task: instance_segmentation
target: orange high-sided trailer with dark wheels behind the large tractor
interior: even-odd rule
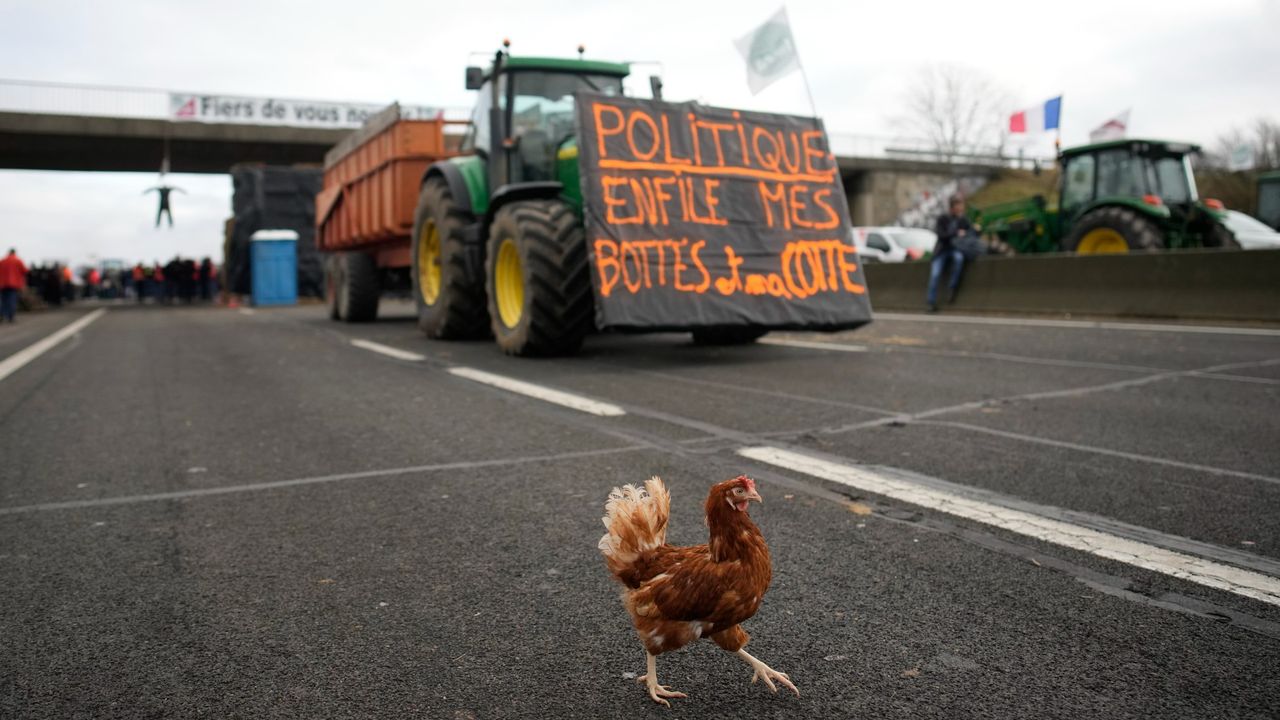
[[[372,319],[381,290],[407,283],[422,174],[431,163],[457,155],[467,124],[403,119],[399,105],[392,105],[325,155],[316,249],[335,254],[325,283],[334,316]],[[342,281],[357,274],[358,297],[346,297],[351,288]],[[374,282],[378,287],[370,288]]]

